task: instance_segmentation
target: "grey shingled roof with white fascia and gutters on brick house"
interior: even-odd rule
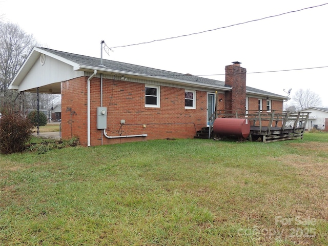
[[[122,63],[120,61],[114,61],[108,59],[103,59],[101,65],[100,58],[73,54],[64,51],[52,50],[43,47],[33,48],[27,60],[24,62],[23,66],[19,69],[18,73],[12,80],[9,89],[18,89],[21,81],[25,78],[25,76],[30,71],[36,60],[40,57],[40,54],[43,53],[73,66],[75,71],[93,72],[94,70],[97,70],[98,73],[130,75],[139,78],[167,81],[168,83],[176,83],[180,85],[183,84],[183,85],[199,87],[199,88],[208,88],[212,90],[214,89],[214,90],[221,90],[221,91],[230,91],[232,89],[230,86],[226,85],[224,81],[220,81],[220,80],[194,76],[191,74],[171,72],[171,71],[144,67],[139,65],[133,65],[128,63]],[[54,81],[52,83],[54,83]],[[56,91],[57,93],[60,93],[60,85],[57,87],[58,88]],[[52,91],[55,91],[55,89],[52,89]],[[247,87],[246,92],[248,95],[254,95],[254,96],[269,96],[280,100],[289,99],[286,96],[281,96],[278,94],[259,90],[252,87]]]

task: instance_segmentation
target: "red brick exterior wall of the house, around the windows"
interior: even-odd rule
[[[87,79],[62,83],[62,137],[79,137],[87,145]],[[218,109],[224,109],[224,94],[218,94]],[[76,115],[66,112],[70,107]],[[100,107],[100,78],[91,79],[91,146],[101,145],[103,130],[96,129]],[[160,86],[160,108],[145,107],[145,84],[103,79],[103,107],[107,107],[107,135],[148,134],[147,137],[106,138],[103,144],[163,138],[192,138],[206,126],[207,92],[196,91],[196,109],[185,109],[185,89]],[[125,125],[120,126],[120,120]],[[146,125],[146,128],[144,128]],[[72,130],[71,130],[72,129]]]

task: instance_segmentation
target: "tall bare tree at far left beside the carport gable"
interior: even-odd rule
[[[29,52],[36,46],[32,34],[27,34],[17,24],[0,21],[0,103],[13,106],[17,92],[8,90],[11,80]]]

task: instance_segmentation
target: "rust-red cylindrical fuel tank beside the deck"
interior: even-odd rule
[[[213,131],[220,136],[247,138],[250,134],[251,126],[247,119],[216,118],[213,124]]]

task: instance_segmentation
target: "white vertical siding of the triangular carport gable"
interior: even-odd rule
[[[74,71],[71,65],[46,55],[45,64],[37,59],[19,85],[19,91],[26,91],[52,83],[66,81],[84,75],[83,71]]]

